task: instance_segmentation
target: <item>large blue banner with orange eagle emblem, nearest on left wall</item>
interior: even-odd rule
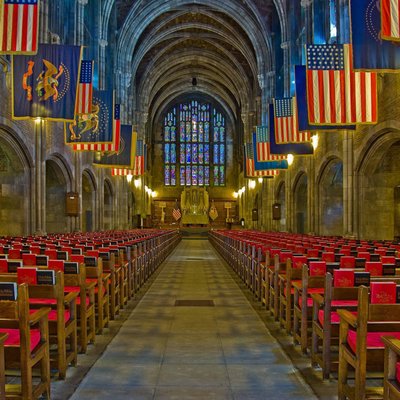
[[[80,46],[51,44],[13,56],[13,118],[73,121],[80,58]]]

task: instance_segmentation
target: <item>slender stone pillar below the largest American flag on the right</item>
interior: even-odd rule
[[[343,133],[343,235],[354,235],[353,132]]]

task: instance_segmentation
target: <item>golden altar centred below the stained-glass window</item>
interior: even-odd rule
[[[208,192],[205,188],[185,188],[181,194],[182,225],[208,225]]]

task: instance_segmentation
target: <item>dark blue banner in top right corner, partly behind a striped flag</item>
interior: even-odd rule
[[[379,0],[351,0],[351,40],[355,70],[384,70],[400,68],[400,47],[381,39]]]

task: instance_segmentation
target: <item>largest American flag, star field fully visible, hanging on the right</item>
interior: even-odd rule
[[[353,71],[350,44],[307,45],[307,103],[311,124],[377,122],[377,76]]]

